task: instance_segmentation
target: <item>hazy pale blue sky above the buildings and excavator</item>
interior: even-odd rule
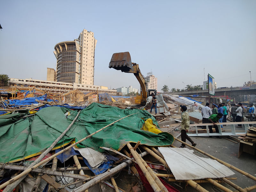
[[[256,80],[255,0],[0,1],[0,74],[46,80],[56,69],[54,46],[83,29],[97,39],[94,84],[140,89],[133,74],[108,68],[113,53],[130,52],[158,91],[217,87]],[[184,83],[182,83],[184,82]]]

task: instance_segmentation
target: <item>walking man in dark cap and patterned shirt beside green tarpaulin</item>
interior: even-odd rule
[[[196,146],[196,143],[192,141],[192,139],[187,135],[188,129],[189,129],[189,115],[187,110],[187,107],[184,105],[180,105],[180,110],[181,110],[181,140],[183,142],[186,142],[186,139],[190,141],[193,147]],[[180,148],[186,148],[185,144],[181,144]]]

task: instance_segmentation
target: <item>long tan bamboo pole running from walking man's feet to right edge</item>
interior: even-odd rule
[[[241,169],[238,169],[237,167],[235,167],[235,166],[233,166],[233,165],[231,165],[231,164],[228,164],[228,163],[226,163],[225,161],[222,161],[222,160],[220,160],[220,159],[218,159],[218,158],[216,158],[216,157],[214,157],[214,156],[212,156],[212,155],[210,155],[210,154],[208,154],[208,153],[205,153],[204,151],[202,151],[202,150],[200,150],[200,149],[198,149],[198,148],[195,148],[195,147],[193,147],[192,145],[189,145],[188,143],[183,142],[182,140],[179,140],[179,139],[177,139],[177,138],[175,138],[175,140],[180,141],[181,143],[187,145],[188,147],[193,148],[193,149],[199,151],[200,153],[202,153],[202,154],[204,154],[204,155],[206,155],[206,156],[208,156],[208,157],[211,157],[212,159],[214,159],[214,160],[220,162],[221,164],[224,164],[224,165],[226,165],[227,167],[229,167],[229,168],[231,168],[231,169],[234,169],[235,171],[237,171],[237,172],[239,172],[239,173],[245,175],[246,177],[248,177],[248,178],[250,178],[250,179],[256,181],[256,177],[254,177],[253,175],[251,175],[251,174],[249,174],[249,173],[247,173],[247,172],[245,172],[245,171],[243,171],[243,170],[241,170]]]

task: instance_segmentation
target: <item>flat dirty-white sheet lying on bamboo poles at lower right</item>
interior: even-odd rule
[[[218,161],[196,156],[193,154],[194,151],[188,148],[159,147],[158,149],[176,180],[214,179],[235,174]]]

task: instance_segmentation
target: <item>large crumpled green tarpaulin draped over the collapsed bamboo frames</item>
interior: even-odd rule
[[[19,161],[42,153],[65,131],[77,113],[68,108],[47,107],[31,118],[20,119],[22,114],[1,116],[0,162]],[[84,140],[77,147],[90,147],[103,152],[100,147],[120,150],[128,142],[140,141],[149,146],[166,146],[173,143],[173,136],[167,132],[157,135],[141,130],[143,119],[152,118],[153,123],[157,124],[155,118],[145,110],[120,109],[92,103],[80,112],[76,122],[55,148],[68,144],[72,140],[81,140],[104,126],[133,113],[137,114],[116,122],[93,135],[91,139]]]

